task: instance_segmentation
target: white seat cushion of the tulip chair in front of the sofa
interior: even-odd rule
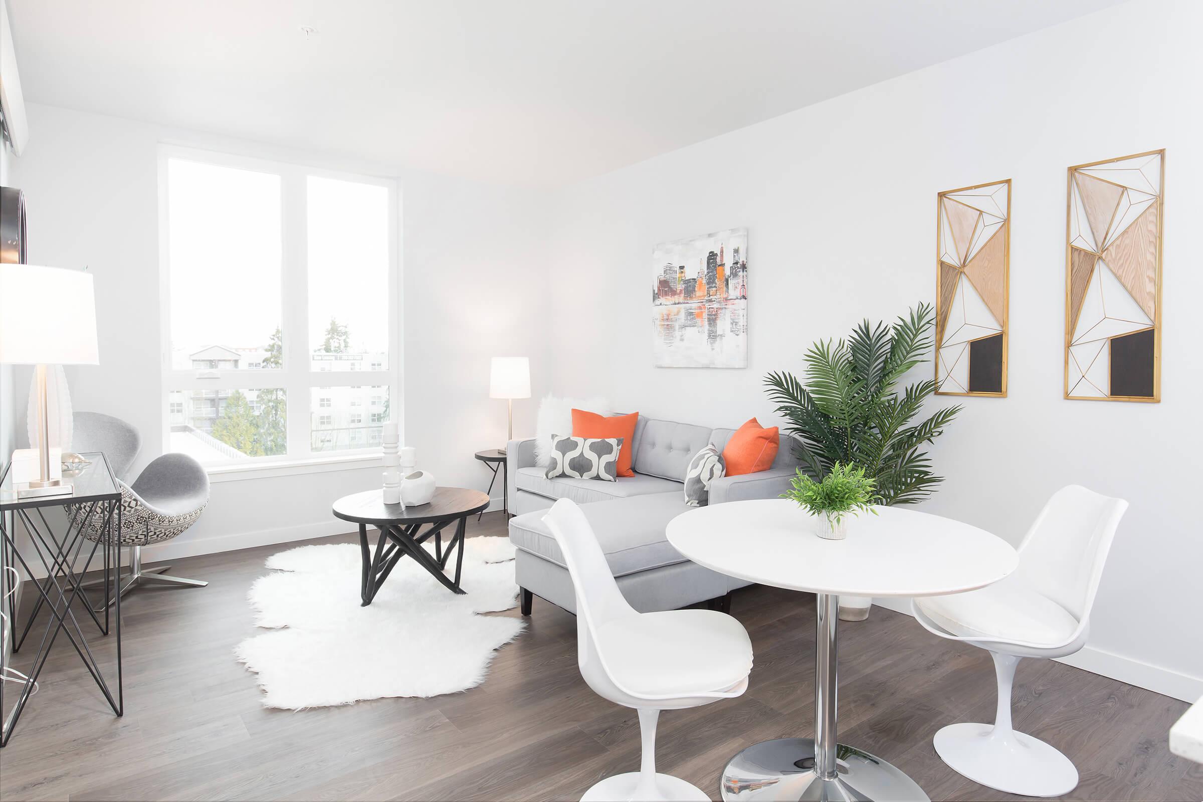
[[[710,610],[624,616],[593,637],[615,684],[640,696],[728,690],[752,671],[747,630]]]

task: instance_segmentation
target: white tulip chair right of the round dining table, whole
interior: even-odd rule
[[[1057,491],[1019,545],[1019,568],[1001,582],[915,599],[914,617],[940,637],[990,652],[998,679],[994,724],[936,733],[941,760],[982,785],[1023,796],[1061,796],[1078,785],[1073,762],[1011,724],[1011,688],[1023,658],[1061,658],[1086,643],[1090,608],[1127,501],[1071,485]]]

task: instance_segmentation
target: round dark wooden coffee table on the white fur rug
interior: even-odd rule
[[[439,487],[428,504],[408,506],[385,504],[381,491],[344,495],[334,501],[334,517],[360,524],[360,552],[363,557],[360,598],[363,607],[372,604],[397,562],[407,554],[452,593],[463,593],[460,571],[463,568],[463,533],[468,516],[488,506],[488,495],[464,487]],[[443,530],[455,523],[456,531],[443,547]],[[368,527],[380,530],[375,549],[368,545]],[[421,528],[428,527],[426,531]],[[434,556],[422,543],[434,537]],[[444,572],[451,552],[456,552],[455,580]]]

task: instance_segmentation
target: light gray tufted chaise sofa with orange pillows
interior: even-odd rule
[[[522,613],[533,596],[576,612],[573,580],[555,537],[543,522],[556,499],[571,499],[593,527],[618,587],[635,610],[676,610],[712,601],[730,606],[730,593],[748,582],[717,574],[682,557],[664,536],[672,518],[692,510],[685,503],[683,480],[689,459],[707,442],[719,451],[735,429],[712,429],[640,417],[635,426],[634,476],[615,482],[547,479],[535,465],[534,440],[511,440],[506,447],[510,541],[517,547],[515,574],[522,588]],[[766,471],[727,476],[710,488],[710,504],[781,495],[796,468],[789,439],[781,439],[777,458]],[[739,533],[733,531],[733,537]]]

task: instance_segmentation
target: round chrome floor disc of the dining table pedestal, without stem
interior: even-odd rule
[[[727,764],[724,800],[913,800],[928,802],[919,785],[867,751],[838,744],[836,776],[814,773],[814,741],[778,738],[748,747]]]

